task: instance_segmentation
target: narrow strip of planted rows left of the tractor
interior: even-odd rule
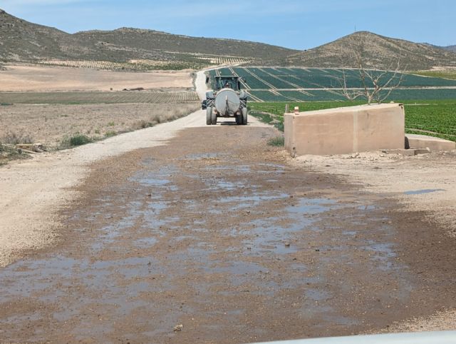
[[[78,104],[78,103],[194,103],[196,92],[0,92],[0,103]]]

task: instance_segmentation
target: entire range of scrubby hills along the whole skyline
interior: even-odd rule
[[[67,34],[48,26],[29,23],[0,10],[0,63],[43,63],[52,60],[127,62],[145,59],[195,62],[192,68],[219,64],[220,61],[338,68],[356,67],[351,57],[354,44],[363,46],[366,66],[388,68],[398,59],[400,68],[408,70],[456,66],[456,54],[450,51],[456,49],[455,46],[446,47],[445,50],[367,31],[356,32],[315,49],[297,51],[250,41],[190,37],[130,28]],[[210,61],[212,56],[214,61]],[[180,68],[185,66],[181,65]]]

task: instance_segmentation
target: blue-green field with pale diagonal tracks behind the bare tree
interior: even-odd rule
[[[241,76],[251,101],[343,101],[338,93],[341,78],[348,88],[361,88],[358,71],[353,69],[302,69],[232,67],[209,71],[210,76]],[[384,80],[392,74],[385,74]],[[400,88],[393,90],[388,101],[412,99],[456,99],[456,80],[399,74]]]

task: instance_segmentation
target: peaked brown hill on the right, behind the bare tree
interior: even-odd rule
[[[353,50],[359,50],[359,46],[363,46],[363,61],[368,67],[387,69],[396,66],[398,60],[400,69],[404,70],[456,66],[456,54],[451,51],[429,44],[391,39],[368,31],[359,31],[315,49],[291,54],[286,62],[296,66],[356,68]]]

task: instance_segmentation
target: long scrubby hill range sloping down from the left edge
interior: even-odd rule
[[[0,10],[0,60],[198,61],[199,55],[238,56],[255,60],[284,59],[297,51],[249,41],[208,39],[122,28],[67,34],[16,18]],[[204,62],[204,60],[203,60]]]

